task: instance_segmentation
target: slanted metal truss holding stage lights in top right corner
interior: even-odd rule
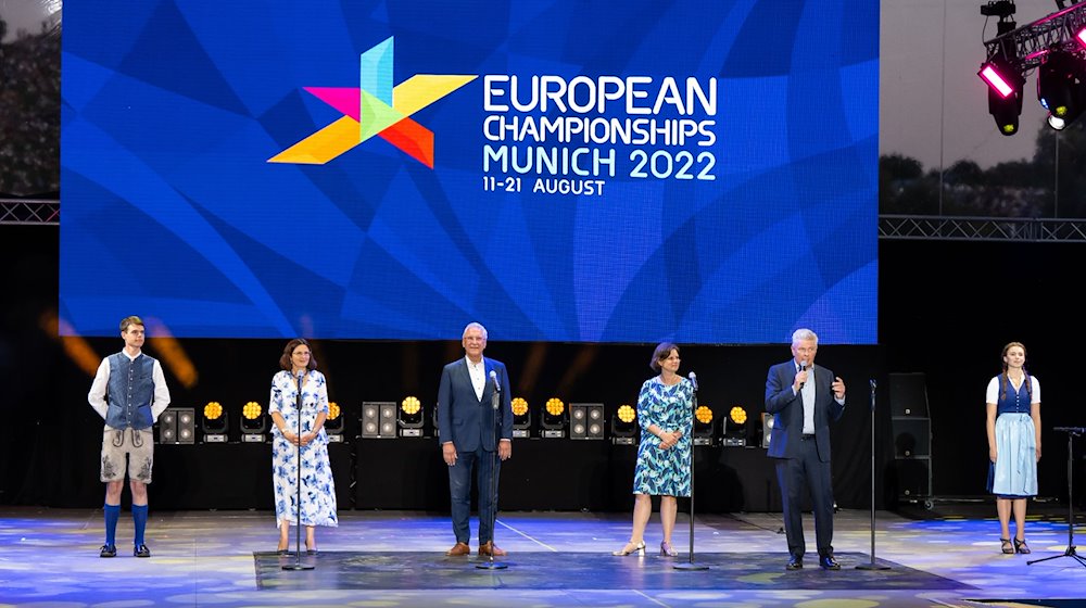
[[[1086,1],[985,41],[987,61],[999,58],[1025,76],[1044,62],[1050,50],[1082,54],[1075,34],[1083,27],[1086,27]]]

